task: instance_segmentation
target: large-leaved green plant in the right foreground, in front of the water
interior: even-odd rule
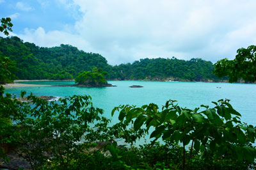
[[[213,108],[201,105],[205,110],[200,112],[200,108],[181,108],[175,102],[166,102],[161,112],[157,105],[149,104],[138,108],[128,105],[116,107],[112,114],[120,109],[118,119],[132,122],[134,130],[143,126],[147,129],[154,127],[155,130],[150,134],[154,141],[161,137],[165,142],[181,143],[184,148],[182,169],[189,168],[193,149],[204,153],[207,147],[215,157],[232,155],[232,158],[241,161],[254,161],[256,150],[252,144],[255,142],[255,128],[241,123],[241,114],[228,100],[212,102],[216,105]],[[186,153],[185,146],[189,143],[191,150]]]

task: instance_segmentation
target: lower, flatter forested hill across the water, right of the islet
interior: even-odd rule
[[[161,80],[171,78],[175,81],[217,80],[212,74],[214,66],[211,61],[194,58],[189,61],[177,58],[145,58],[140,59],[140,61],[134,61],[132,64],[114,66],[113,69],[118,70],[117,77],[120,79]]]

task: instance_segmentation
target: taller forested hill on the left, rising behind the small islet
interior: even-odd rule
[[[0,55],[12,59],[17,79],[72,79],[94,66],[111,73],[111,66],[99,54],[87,53],[70,45],[38,47],[20,38],[0,38]]]

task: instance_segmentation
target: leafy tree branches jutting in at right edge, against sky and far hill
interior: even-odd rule
[[[218,77],[228,76],[229,82],[237,82],[239,79],[256,82],[256,46],[238,49],[234,60],[221,59],[214,66],[214,73]]]

